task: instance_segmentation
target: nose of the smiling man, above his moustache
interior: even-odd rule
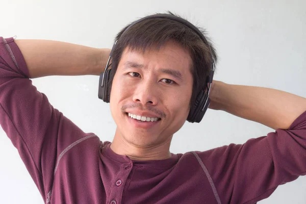
[[[159,93],[154,83],[150,81],[142,81],[139,83],[134,95],[133,101],[141,103],[143,106],[151,105],[156,106],[158,104]]]

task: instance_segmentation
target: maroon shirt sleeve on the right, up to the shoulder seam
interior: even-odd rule
[[[256,203],[277,186],[306,174],[306,111],[288,130],[198,155],[212,175],[221,203]]]

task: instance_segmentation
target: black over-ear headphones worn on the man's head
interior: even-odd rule
[[[140,21],[143,21],[143,20],[146,20],[146,19],[152,19],[152,18],[166,18],[166,19],[171,19],[171,20],[175,20],[177,22],[183,23],[188,28],[193,30],[203,40],[203,42],[206,45],[209,46],[209,43],[208,43],[207,39],[192,23],[190,23],[189,21],[187,21],[183,18],[174,16],[174,15],[170,15],[170,14],[155,14],[155,15],[146,16],[144,18],[141,18],[141,19],[133,22],[129,27],[127,27],[124,30],[124,32],[129,30],[129,28],[132,27],[134,24],[136,24]],[[123,36],[124,32],[122,33],[121,36]],[[108,68],[110,66],[109,65],[110,59],[111,59],[113,50],[115,49],[117,41],[113,45],[113,48],[112,48],[111,53],[110,53],[110,57],[108,59],[106,67],[105,67],[105,71],[100,74],[100,79],[99,79],[98,97],[106,103],[110,102],[110,93],[109,93],[107,84],[108,84],[109,79],[110,79],[110,70],[111,69],[108,69]],[[212,61],[213,61],[213,56],[212,56]],[[214,72],[215,72],[215,63],[213,62],[212,63],[212,69],[210,70],[209,75],[206,79],[206,83],[205,83],[206,86],[207,86],[207,83],[209,83],[209,87],[207,87],[207,92],[205,91],[205,87],[203,87],[200,90],[200,92],[197,94],[194,104],[191,105],[191,108],[190,108],[190,111],[189,111],[189,114],[188,114],[188,117],[187,117],[187,121],[189,121],[189,122],[200,122],[202,120],[204,114],[206,113],[206,111],[209,107],[209,104],[210,104],[209,92],[210,92],[210,88],[211,88],[211,85],[212,85],[212,82],[213,82]]]

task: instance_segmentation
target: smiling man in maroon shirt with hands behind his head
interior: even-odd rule
[[[171,154],[172,136],[216,61],[214,48],[175,20],[125,29],[112,53],[112,143],[81,131],[29,80],[99,75],[109,49],[0,39],[0,123],[45,203],[256,203],[305,174],[306,98],[263,87],[214,81],[210,108],[275,132],[243,145]]]

